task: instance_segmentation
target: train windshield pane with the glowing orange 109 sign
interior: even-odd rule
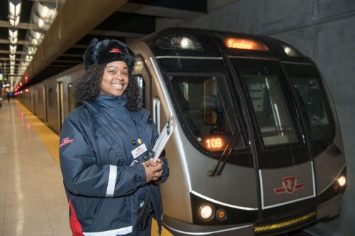
[[[209,151],[222,151],[239,135],[224,75],[170,75],[176,105],[189,136]],[[239,138],[234,148],[244,147]]]

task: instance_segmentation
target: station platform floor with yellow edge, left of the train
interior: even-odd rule
[[[20,102],[0,108],[0,236],[70,236],[59,136]],[[154,221],[154,220],[153,220]],[[152,235],[158,235],[153,222]],[[163,229],[163,236],[171,235]]]

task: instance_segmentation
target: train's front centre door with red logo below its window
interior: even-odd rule
[[[315,217],[315,173],[280,63],[245,57],[229,60],[251,114],[249,125],[255,139],[251,143],[259,181],[257,225],[273,223],[275,230],[285,224],[275,220],[281,216],[302,224]],[[302,218],[302,214],[307,216]],[[256,232],[263,230],[256,227]]]

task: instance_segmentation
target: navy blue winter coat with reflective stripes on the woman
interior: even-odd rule
[[[124,95],[100,94],[96,101],[72,111],[62,125],[60,167],[75,236],[136,235],[137,210],[147,191],[161,228],[158,184],[146,184],[142,164],[131,166],[131,151],[138,146],[131,144],[131,137],[141,138],[151,150],[158,132],[147,110],[131,112],[125,104]],[[169,175],[168,161],[161,158],[159,182]]]

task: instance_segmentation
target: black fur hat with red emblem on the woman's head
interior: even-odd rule
[[[115,61],[126,62],[129,73],[133,71],[136,55],[125,43],[119,40],[107,39],[99,41],[93,38],[84,52],[84,69],[92,64],[107,64]]]

